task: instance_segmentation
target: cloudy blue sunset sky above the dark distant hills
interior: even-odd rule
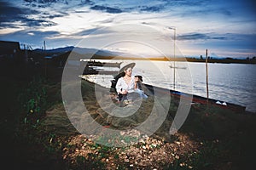
[[[255,7],[253,0],[0,0],[0,40],[247,58],[256,56]]]

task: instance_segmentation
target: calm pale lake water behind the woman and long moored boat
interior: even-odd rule
[[[134,62],[136,65],[133,75],[143,76],[144,83],[207,97],[205,63],[114,59],[101,61],[123,62],[121,67]],[[117,68],[113,69],[117,70]],[[246,106],[247,111],[256,112],[255,72],[256,65],[209,63],[209,98],[243,105]],[[107,88],[110,88],[112,79],[112,75],[90,77],[90,81]]]

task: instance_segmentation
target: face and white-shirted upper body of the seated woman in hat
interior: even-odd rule
[[[116,83],[116,91],[119,94],[119,101],[127,99],[127,94],[135,92],[138,80],[131,76],[132,68],[125,68],[125,76],[120,77]]]

